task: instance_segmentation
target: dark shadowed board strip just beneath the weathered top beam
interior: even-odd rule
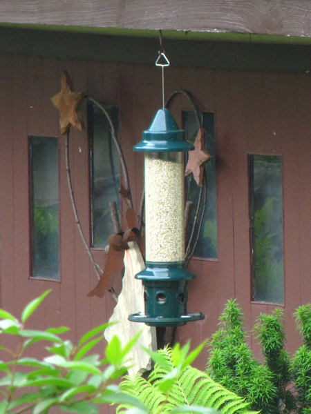
[[[0,28],[0,37],[0,53],[64,59],[153,64],[159,49],[158,39],[100,34]],[[310,47],[303,45],[166,39],[164,46],[172,66],[286,72],[311,68]]]

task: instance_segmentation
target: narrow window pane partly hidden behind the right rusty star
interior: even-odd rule
[[[183,111],[182,120],[184,124],[186,139],[194,143],[198,133],[198,124],[196,115],[193,111]],[[205,164],[207,175],[207,205],[202,222],[202,229],[198,244],[194,250],[194,256],[205,257],[207,259],[217,259],[218,257],[218,239],[217,239],[217,209],[216,209],[216,144],[215,144],[215,123],[212,112],[203,112],[202,126],[205,128],[205,147],[211,155],[211,159]],[[189,222],[194,221],[196,206],[200,187],[192,176],[187,177],[187,199],[193,201]],[[187,239],[190,237],[191,226],[187,228]]]

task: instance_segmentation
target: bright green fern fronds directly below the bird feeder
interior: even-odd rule
[[[243,398],[211,380],[206,373],[189,366],[189,361],[200,349],[187,356],[188,349],[189,345],[180,349],[177,344],[158,351],[148,380],[139,376],[126,377],[121,383],[122,390],[137,397],[154,414],[176,412],[174,410],[180,406],[211,407],[223,414],[250,414],[249,403]],[[117,413],[124,413],[126,408],[126,404],[119,406]]]

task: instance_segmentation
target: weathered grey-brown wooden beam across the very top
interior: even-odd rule
[[[311,36],[308,0],[1,0],[7,23]]]

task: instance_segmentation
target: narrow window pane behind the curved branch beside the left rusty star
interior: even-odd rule
[[[118,110],[113,107],[106,107],[106,110],[117,133]],[[115,201],[120,210],[120,164],[106,116],[95,105],[89,107],[88,115],[91,146],[91,243],[93,247],[104,248],[109,235],[113,233],[109,202]]]

